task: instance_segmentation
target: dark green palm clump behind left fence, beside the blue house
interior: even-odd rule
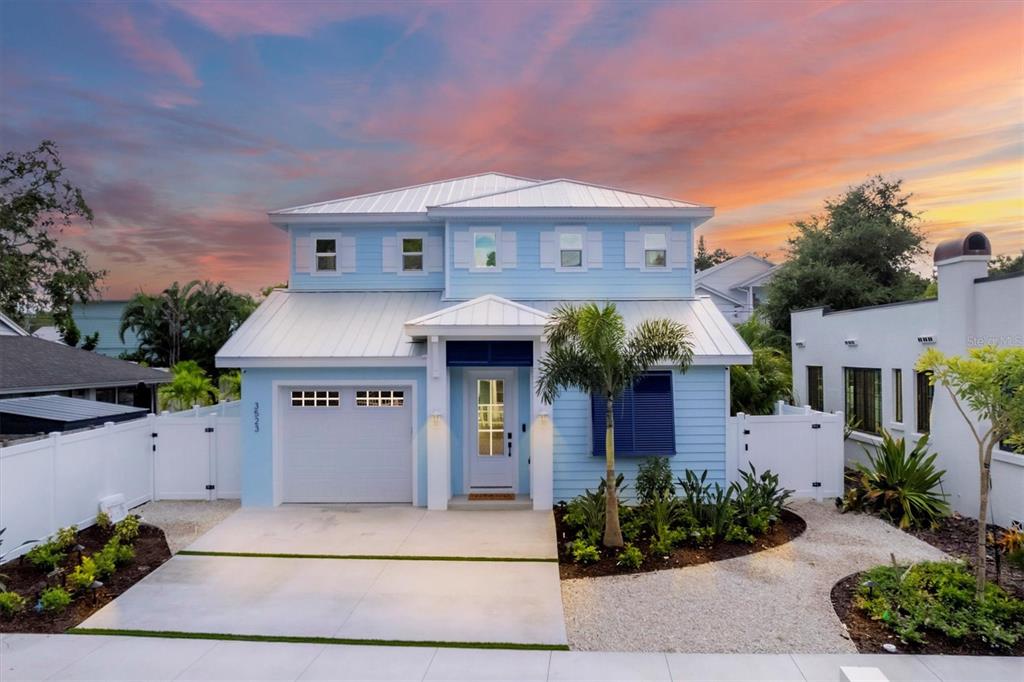
[[[129,329],[139,339],[129,357],[158,367],[196,360],[215,372],[214,355],[256,308],[248,294],[238,294],[223,283],[177,282],[158,295],[139,292],[121,315],[121,339]]]

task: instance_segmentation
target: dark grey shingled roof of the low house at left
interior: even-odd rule
[[[0,398],[69,397],[156,411],[166,372],[71,348],[30,335],[0,314]]]

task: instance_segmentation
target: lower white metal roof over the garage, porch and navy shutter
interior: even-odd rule
[[[427,329],[458,333],[462,326],[476,326],[509,335],[516,328],[536,333],[546,322],[542,315],[558,304],[484,296],[453,305],[441,300],[439,291],[275,291],[220,349],[217,365],[422,364],[425,345],[414,342],[408,332],[420,337]],[[615,301],[615,305],[627,326],[649,317],[670,317],[686,325],[693,335],[697,364],[751,361],[751,349],[710,298]],[[431,319],[435,324],[430,325]],[[413,328],[407,329],[407,323]]]

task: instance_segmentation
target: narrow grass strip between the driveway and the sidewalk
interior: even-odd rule
[[[348,637],[302,637],[293,635],[236,635],[217,632],[180,630],[120,630],[118,628],[72,628],[69,635],[114,635],[154,639],[212,639],[226,642],[279,642],[288,644],[348,644],[365,646],[419,646],[443,649],[512,649],[518,651],[568,651],[567,644],[527,644],[522,642],[445,642],[404,639],[358,639]]]

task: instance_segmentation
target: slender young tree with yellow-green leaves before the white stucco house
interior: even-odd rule
[[[971,348],[966,357],[929,348],[918,358],[916,369],[931,372],[932,385],[945,387],[978,443],[980,495],[975,580],[980,601],[985,591],[985,519],[992,450],[1000,440],[1012,446],[1024,444],[1024,348]],[[978,424],[968,414],[969,410],[979,420]]]

